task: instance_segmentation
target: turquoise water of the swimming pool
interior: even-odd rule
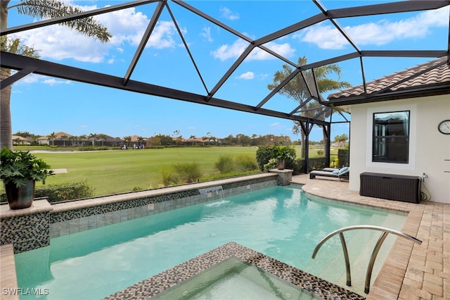
[[[339,238],[330,239],[312,260],[316,244],[340,227],[400,230],[404,220],[308,199],[300,187],[270,187],[53,238],[51,246],[15,255],[18,286],[46,294],[42,299],[101,299],[231,241],[334,283],[343,277],[345,285]],[[364,246],[378,234],[362,230],[345,237],[350,258],[366,263],[373,246]],[[389,244],[383,246],[385,254]],[[368,256],[359,258],[364,252]],[[356,272],[352,265],[352,279],[364,282],[366,265],[363,275]],[[376,272],[375,265],[373,278]],[[33,296],[21,296],[28,298]]]

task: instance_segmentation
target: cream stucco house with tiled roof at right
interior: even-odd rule
[[[428,177],[432,201],[450,204],[450,68],[439,58],[328,96],[348,106],[349,189],[360,189],[364,172]]]

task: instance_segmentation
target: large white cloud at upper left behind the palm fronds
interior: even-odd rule
[[[79,6],[91,10],[96,6]],[[27,45],[39,50],[41,58],[56,61],[73,58],[76,61],[100,63],[108,61],[109,51],[122,53],[124,44],[137,46],[146,31],[149,19],[134,8],[97,15],[96,20],[108,28],[113,37],[110,42],[101,43],[92,37],[86,37],[75,30],[60,25],[41,27],[35,30],[20,32],[15,36],[23,39]],[[172,21],[160,21],[148,39],[147,47],[164,49],[176,46],[174,36],[178,35]]]

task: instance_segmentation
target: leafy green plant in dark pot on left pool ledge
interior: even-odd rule
[[[28,151],[1,149],[0,180],[4,182],[9,208],[22,209],[32,205],[36,181],[45,184],[53,175],[50,165]]]

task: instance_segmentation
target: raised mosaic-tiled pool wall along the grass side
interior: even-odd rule
[[[210,182],[207,186],[214,187],[217,185],[217,183]],[[221,183],[223,191],[221,194],[201,195],[198,186],[192,185],[191,189],[183,191],[162,192],[155,196],[127,199],[101,205],[95,205],[94,203],[92,206],[67,209],[65,211],[52,211],[50,207],[46,211],[13,215],[2,214],[0,245],[13,244],[14,253],[17,254],[49,246],[52,237],[70,235],[83,230],[212,201],[221,196],[233,196],[276,185],[276,176],[267,177],[264,175],[262,177],[244,178],[240,181],[234,180],[229,183]],[[205,185],[202,186],[204,187]],[[45,199],[39,200],[39,202],[41,201],[45,201],[46,205],[49,206]],[[34,201],[33,205],[39,202]]]

